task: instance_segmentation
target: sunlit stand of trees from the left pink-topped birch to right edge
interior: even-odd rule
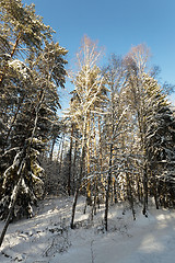
[[[124,57],[112,55],[102,68],[101,54],[85,36],[77,54],[79,68],[70,73],[74,90],[65,116],[70,141],[67,185],[75,191],[71,226],[83,190],[93,214],[100,202],[105,204],[107,230],[113,202],[128,201],[133,219],[137,202],[148,216],[149,197],[156,208],[174,207],[175,118],[167,85],[158,82],[158,68],[149,67],[145,45],[132,47]]]

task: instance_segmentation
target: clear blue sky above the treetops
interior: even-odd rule
[[[57,33],[55,41],[69,50],[71,64],[86,34],[105,47],[106,56],[125,55],[144,43],[162,81],[175,84],[175,0],[22,0]]]

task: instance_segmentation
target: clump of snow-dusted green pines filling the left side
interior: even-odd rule
[[[23,8],[21,1],[12,0],[1,1],[0,9],[3,38],[14,41],[9,44],[8,61],[2,59],[0,76],[5,135],[0,157],[0,217],[8,217],[5,229],[14,217],[31,216],[32,205],[44,193],[45,172],[38,156],[57,122],[57,88],[65,85],[67,50],[49,42],[52,31],[35,14],[34,5]],[[21,46],[28,49],[25,61],[18,58]]]

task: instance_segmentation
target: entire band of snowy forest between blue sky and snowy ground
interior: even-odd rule
[[[106,66],[103,50],[82,38],[72,71],[67,50],[36,15],[34,4],[0,1],[0,218],[33,215],[46,194],[86,196],[92,217],[127,201],[147,216],[174,207],[175,117],[149,48],[138,45]],[[73,85],[69,108],[58,116],[59,88]],[[84,208],[85,211],[85,208]]]

